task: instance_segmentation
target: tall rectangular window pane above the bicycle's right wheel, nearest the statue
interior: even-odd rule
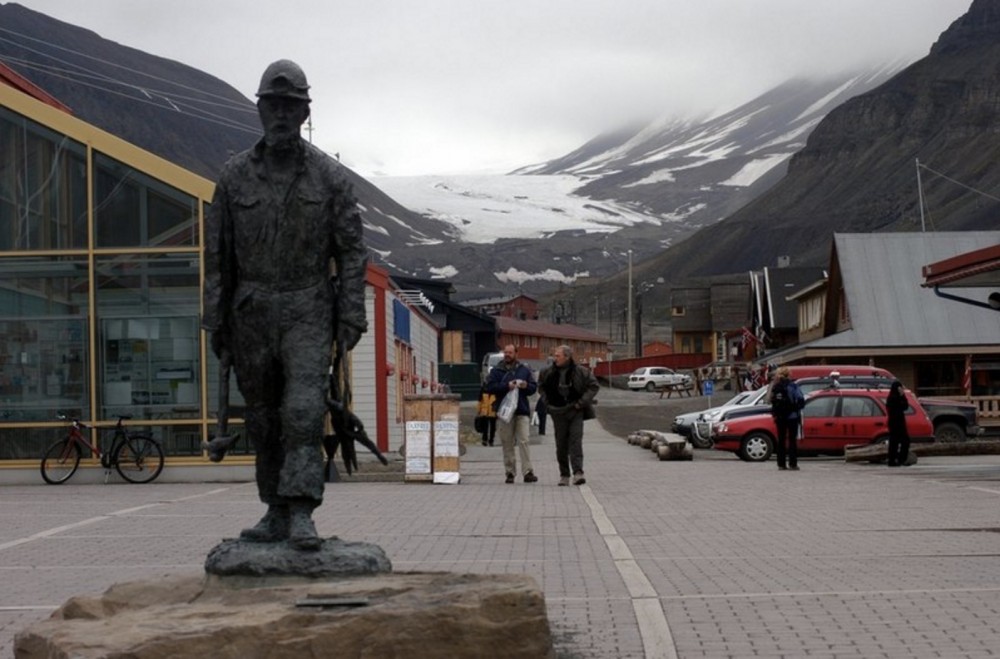
[[[197,255],[102,257],[96,272],[101,417],[200,416]]]

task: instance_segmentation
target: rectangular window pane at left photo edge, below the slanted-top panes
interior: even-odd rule
[[[86,271],[70,258],[0,259],[0,423],[87,417]]]

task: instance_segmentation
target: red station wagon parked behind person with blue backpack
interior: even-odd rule
[[[934,425],[912,392],[906,427],[912,442],[934,440]],[[887,389],[821,389],[806,397],[802,409],[803,438],[799,455],[840,455],[848,444],[888,439]],[[715,448],[736,453],[747,462],[764,462],[774,452],[777,431],[770,414],[723,421],[715,429]]]

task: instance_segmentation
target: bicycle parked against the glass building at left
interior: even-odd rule
[[[105,483],[111,476],[112,467],[129,483],[149,483],[163,471],[163,449],[160,443],[147,434],[129,432],[122,423],[132,417],[119,415],[111,448],[104,453],[83,436],[81,431],[86,430],[87,426],[79,419],[70,419],[62,414],[58,418],[70,421],[70,428],[64,439],[45,451],[41,471],[46,483],[59,485],[68,481],[80,466],[84,449],[100,459],[101,466],[104,467]]]

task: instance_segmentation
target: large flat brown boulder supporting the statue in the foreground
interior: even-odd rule
[[[525,575],[392,573],[247,586],[164,577],[74,597],[15,638],[18,659],[553,657]]]

